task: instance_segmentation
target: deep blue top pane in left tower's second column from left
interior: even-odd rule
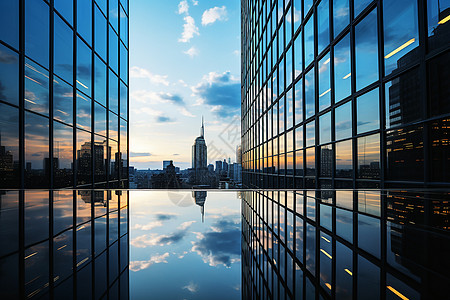
[[[25,54],[48,69],[49,7],[44,1],[25,1]]]

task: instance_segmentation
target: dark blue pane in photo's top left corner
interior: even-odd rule
[[[0,1],[0,40],[19,49],[19,1]]]

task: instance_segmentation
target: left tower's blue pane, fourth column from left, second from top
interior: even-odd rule
[[[77,89],[91,95],[92,51],[78,38],[77,40]]]

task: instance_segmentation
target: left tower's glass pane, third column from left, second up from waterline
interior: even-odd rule
[[[57,77],[53,79],[53,118],[73,123],[73,87]]]

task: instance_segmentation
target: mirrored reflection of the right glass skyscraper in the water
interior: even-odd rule
[[[248,190],[241,196],[243,299],[447,297],[448,194]]]

